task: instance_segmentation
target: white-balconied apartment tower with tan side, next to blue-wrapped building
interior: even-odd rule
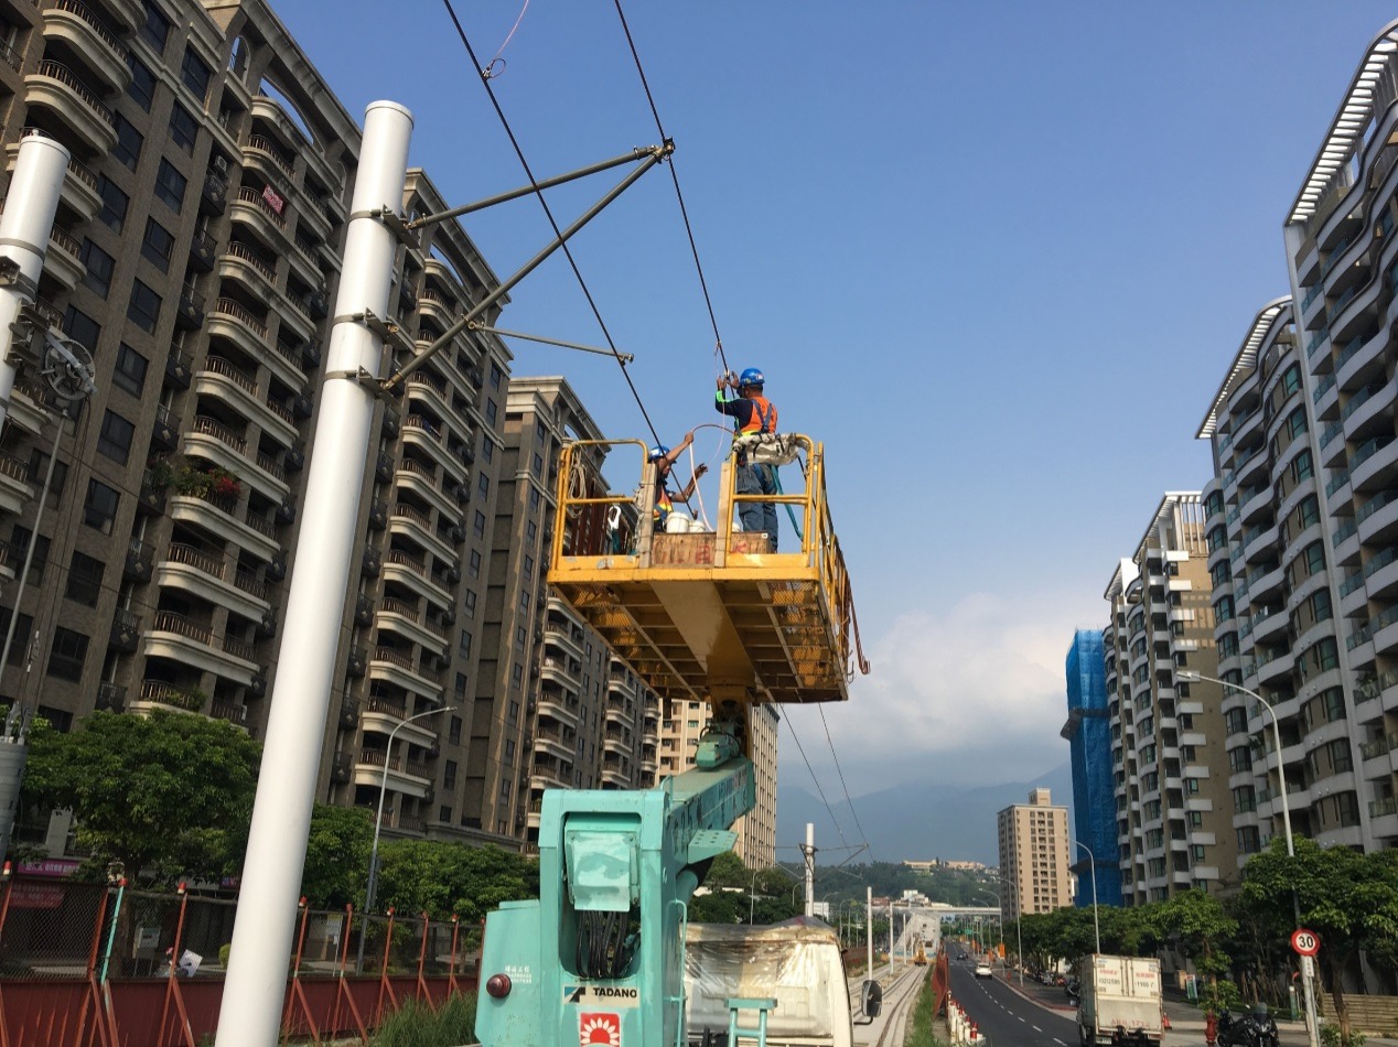
[[[1107,723],[1125,904],[1236,885],[1237,842],[1225,770],[1204,509],[1167,493],[1104,591]],[[1100,855],[1095,855],[1100,860]],[[1083,868],[1083,855],[1074,855]]]

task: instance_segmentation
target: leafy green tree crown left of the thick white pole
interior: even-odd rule
[[[99,712],[31,738],[21,802],[70,809],[89,864],[137,883],[242,864],[261,745],[225,720]]]

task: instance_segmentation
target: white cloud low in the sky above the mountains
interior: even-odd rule
[[[918,777],[1015,781],[1065,762],[1064,661],[1085,621],[1075,615],[1093,609],[977,593],[945,612],[899,615],[872,644],[872,674],[823,709],[851,795]],[[829,767],[818,716],[786,712],[816,770]],[[783,780],[800,786],[809,774],[791,749]]]

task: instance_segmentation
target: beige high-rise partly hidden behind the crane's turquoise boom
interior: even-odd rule
[[[777,724],[781,714],[772,705],[749,709],[748,756],[755,772],[756,805],[733,826],[738,833],[734,853],[749,868],[768,868],[777,862]],[[705,702],[670,703],[660,723],[658,779],[682,774],[695,766],[695,751],[709,725],[709,710]]]

